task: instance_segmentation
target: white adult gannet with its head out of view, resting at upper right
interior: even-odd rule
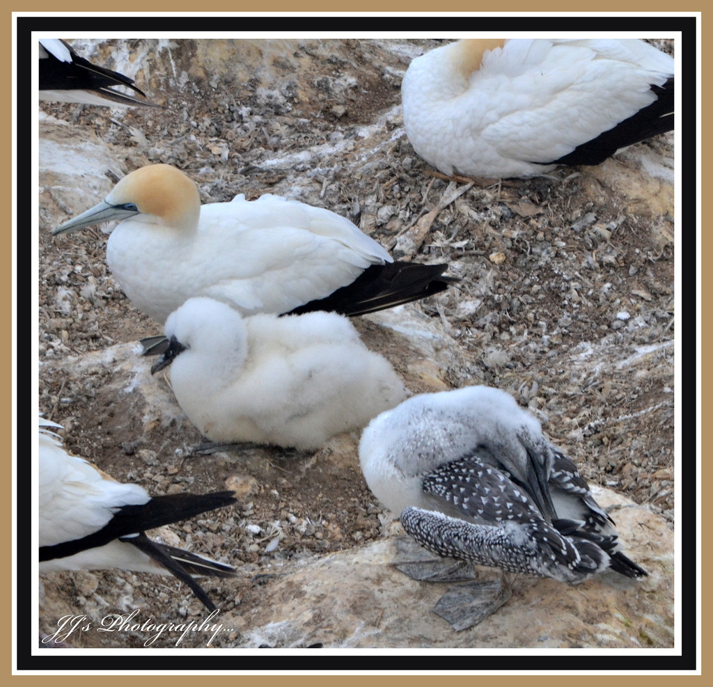
[[[625,39],[468,39],[411,62],[406,135],[446,175],[598,165],[674,127],[674,61]]]

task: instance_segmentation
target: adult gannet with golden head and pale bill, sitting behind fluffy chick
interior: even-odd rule
[[[358,315],[446,289],[447,265],[393,262],[348,219],[267,194],[200,205],[195,183],[170,165],[125,176],[54,234],[123,219],[106,259],[133,304],[163,323],[193,296],[245,315],[312,310]]]

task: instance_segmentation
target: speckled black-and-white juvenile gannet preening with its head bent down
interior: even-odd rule
[[[560,582],[610,567],[647,574],[575,465],[505,391],[413,396],[381,413],[359,446],[369,488],[421,546]]]

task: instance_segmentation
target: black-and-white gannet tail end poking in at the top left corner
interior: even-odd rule
[[[148,105],[146,95],[133,85],[128,76],[92,64],[73,51],[72,46],[59,38],[40,41],[40,100],[88,105]],[[136,95],[116,91],[116,86],[130,88]]]

